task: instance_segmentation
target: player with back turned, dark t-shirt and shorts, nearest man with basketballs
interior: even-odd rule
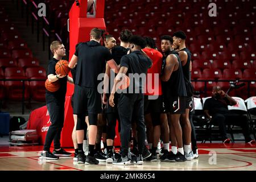
[[[104,72],[105,63],[110,68],[118,72],[119,68],[108,48],[101,46],[101,30],[93,28],[90,31],[90,41],[80,43],[76,47],[69,68],[73,68],[77,63],[76,82],[74,91],[74,114],[77,114],[77,144],[79,146],[79,154],[77,155],[77,163],[98,164],[98,160],[94,157],[94,146],[97,135],[97,114],[101,113],[101,95],[97,91],[100,81],[97,77]],[[89,117],[89,152],[85,155],[82,148],[84,140],[85,112],[88,110]]]

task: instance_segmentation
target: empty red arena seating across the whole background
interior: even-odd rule
[[[34,2],[39,3],[38,0]],[[40,2],[47,5],[51,31],[59,34],[64,44],[68,45],[68,10],[74,1]],[[187,34],[187,47],[192,52],[192,80],[211,80],[206,81],[207,96],[210,96],[214,85],[221,85],[225,91],[228,90],[229,82],[224,80],[252,80],[249,84],[250,96],[253,96],[256,90],[256,1],[214,1],[218,9],[217,17],[208,16],[210,2],[105,0],[106,29],[116,39],[123,28],[129,28],[134,34],[151,36],[158,49],[160,36],[183,30]],[[0,67],[3,73],[6,68],[19,67],[26,72],[26,77],[38,78],[27,73],[33,67],[39,69],[38,60],[34,59],[4,10],[1,10],[0,16],[5,24],[0,27]],[[35,84],[39,82],[31,82],[31,88]],[[205,82],[193,82],[193,86],[197,91],[205,90]],[[245,98],[245,90],[247,82],[246,86],[230,94]]]

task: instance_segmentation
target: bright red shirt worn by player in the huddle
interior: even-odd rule
[[[151,80],[146,80],[146,93],[147,96],[160,96],[162,95],[162,85],[160,80],[160,73],[162,68],[162,53],[152,48],[144,48],[143,51],[147,54],[148,57],[152,60],[152,67],[148,69],[147,75],[151,74]],[[158,75],[158,80],[155,80],[155,75]],[[158,81],[158,84],[155,86],[155,81]]]

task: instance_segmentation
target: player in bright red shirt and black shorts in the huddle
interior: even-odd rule
[[[155,49],[154,39],[149,37],[145,37],[144,39],[146,40],[146,48],[144,48],[143,51],[152,60],[152,67],[147,71],[146,93],[144,94],[144,119],[147,126],[148,146],[152,154],[149,160],[156,161],[156,148],[161,134],[160,113],[163,112],[163,110],[161,110],[163,98],[162,85],[160,81],[163,55]],[[155,78],[155,76],[158,78]],[[169,140],[167,145],[164,143],[164,147],[169,147]]]

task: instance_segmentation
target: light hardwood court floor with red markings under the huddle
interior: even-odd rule
[[[199,144],[199,159],[183,163],[144,162],[142,166],[114,166],[106,163],[87,166],[73,162],[73,157],[39,160],[42,148],[0,146],[0,171],[256,171],[256,146],[244,143]],[[73,152],[72,148],[66,150]],[[213,155],[209,155],[211,151],[216,152],[216,160],[212,159]]]

